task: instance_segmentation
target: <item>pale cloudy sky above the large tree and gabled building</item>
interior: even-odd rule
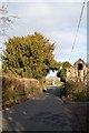
[[[57,61],[69,61],[83,0],[77,0],[80,2],[73,2],[76,0],[68,2],[65,2],[66,0],[62,2],[60,0],[48,0],[49,2],[43,0],[18,1],[20,2],[9,0],[9,14],[16,14],[20,19],[7,31],[8,35],[22,37],[38,31],[49,38],[50,42],[56,43],[53,53]],[[79,58],[87,60],[86,7],[70,63],[75,63]]]

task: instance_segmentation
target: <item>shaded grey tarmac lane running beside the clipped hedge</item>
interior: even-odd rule
[[[3,131],[79,131],[79,123],[65,103],[49,93],[2,111]]]

